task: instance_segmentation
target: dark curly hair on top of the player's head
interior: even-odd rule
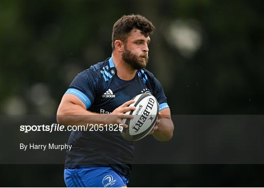
[[[114,50],[114,42],[116,40],[121,40],[123,42],[126,42],[128,35],[132,29],[139,29],[145,37],[148,37],[152,34],[155,27],[151,21],[148,21],[148,19],[146,19],[141,15],[132,14],[127,16],[122,16],[113,25],[113,32],[112,32],[113,50]]]

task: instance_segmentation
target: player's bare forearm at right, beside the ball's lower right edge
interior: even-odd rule
[[[168,141],[173,136],[174,125],[170,118],[161,118],[158,129],[154,131],[153,136],[158,141]]]

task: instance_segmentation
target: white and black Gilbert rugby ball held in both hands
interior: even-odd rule
[[[158,102],[150,93],[143,93],[133,98],[133,111],[126,114],[133,115],[133,119],[123,119],[128,128],[123,128],[121,135],[128,141],[137,141],[147,136],[158,118]]]

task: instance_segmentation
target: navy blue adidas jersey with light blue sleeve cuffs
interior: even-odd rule
[[[159,110],[168,108],[161,84],[146,69],[137,70],[130,81],[120,79],[112,58],[92,65],[79,73],[66,93],[77,96],[87,110],[109,114],[115,108],[141,93],[151,93],[159,103]],[[134,143],[125,140],[119,131],[72,131],[68,140],[65,168],[90,167],[109,164],[129,176]]]

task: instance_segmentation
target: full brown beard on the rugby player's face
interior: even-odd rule
[[[145,60],[141,60],[141,57],[145,57]],[[148,64],[149,57],[147,53],[142,53],[139,56],[133,54],[127,46],[125,46],[124,52],[122,53],[122,59],[124,62],[128,63],[134,69],[145,68]]]

